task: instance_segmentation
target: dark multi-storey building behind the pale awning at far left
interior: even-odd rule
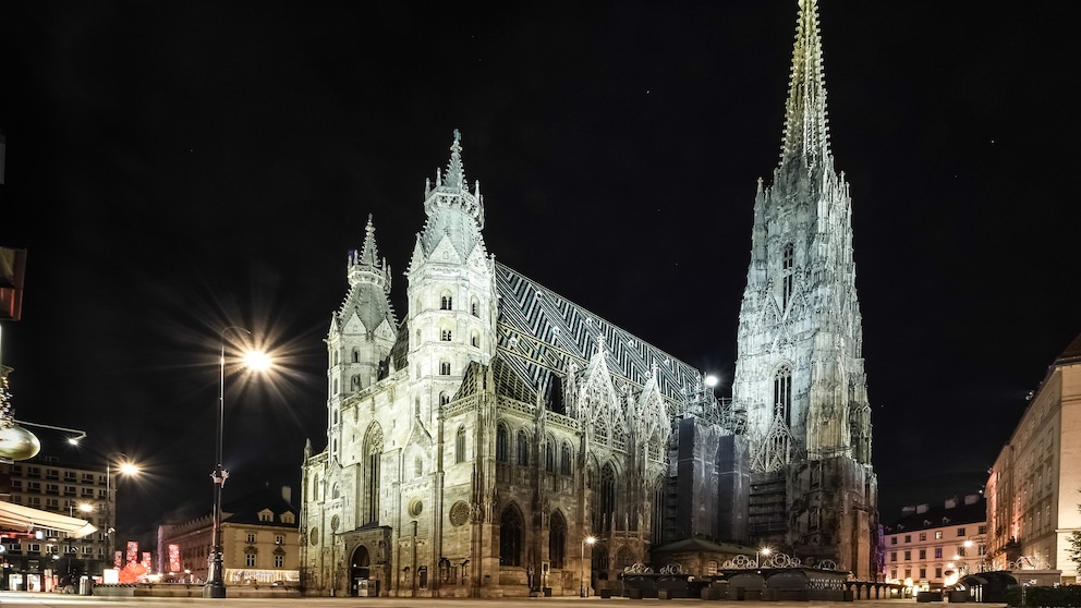
[[[112,568],[117,493],[107,472],[46,458],[8,467],[12,503],[86,520],[98,531],[82,538],[48,528],[4,533],[3,588],[49,591],[65,576],[101,576],[104,569]]]

